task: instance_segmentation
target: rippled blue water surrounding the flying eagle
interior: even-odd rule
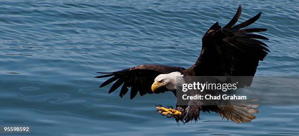
[[[246,124],[201,113],[177,125],[155,111],[175,105],[170,92],[130,100],[93,78],[145,63],[189,67],[206,30],[238,4],[239,22],[262,11],[252,27],[269,29],[272,52],[256,75],[298,76],[297,0],[1,0],[0,126],[30,126],[34,136],[299,135],[299,104],[260,106]]]

